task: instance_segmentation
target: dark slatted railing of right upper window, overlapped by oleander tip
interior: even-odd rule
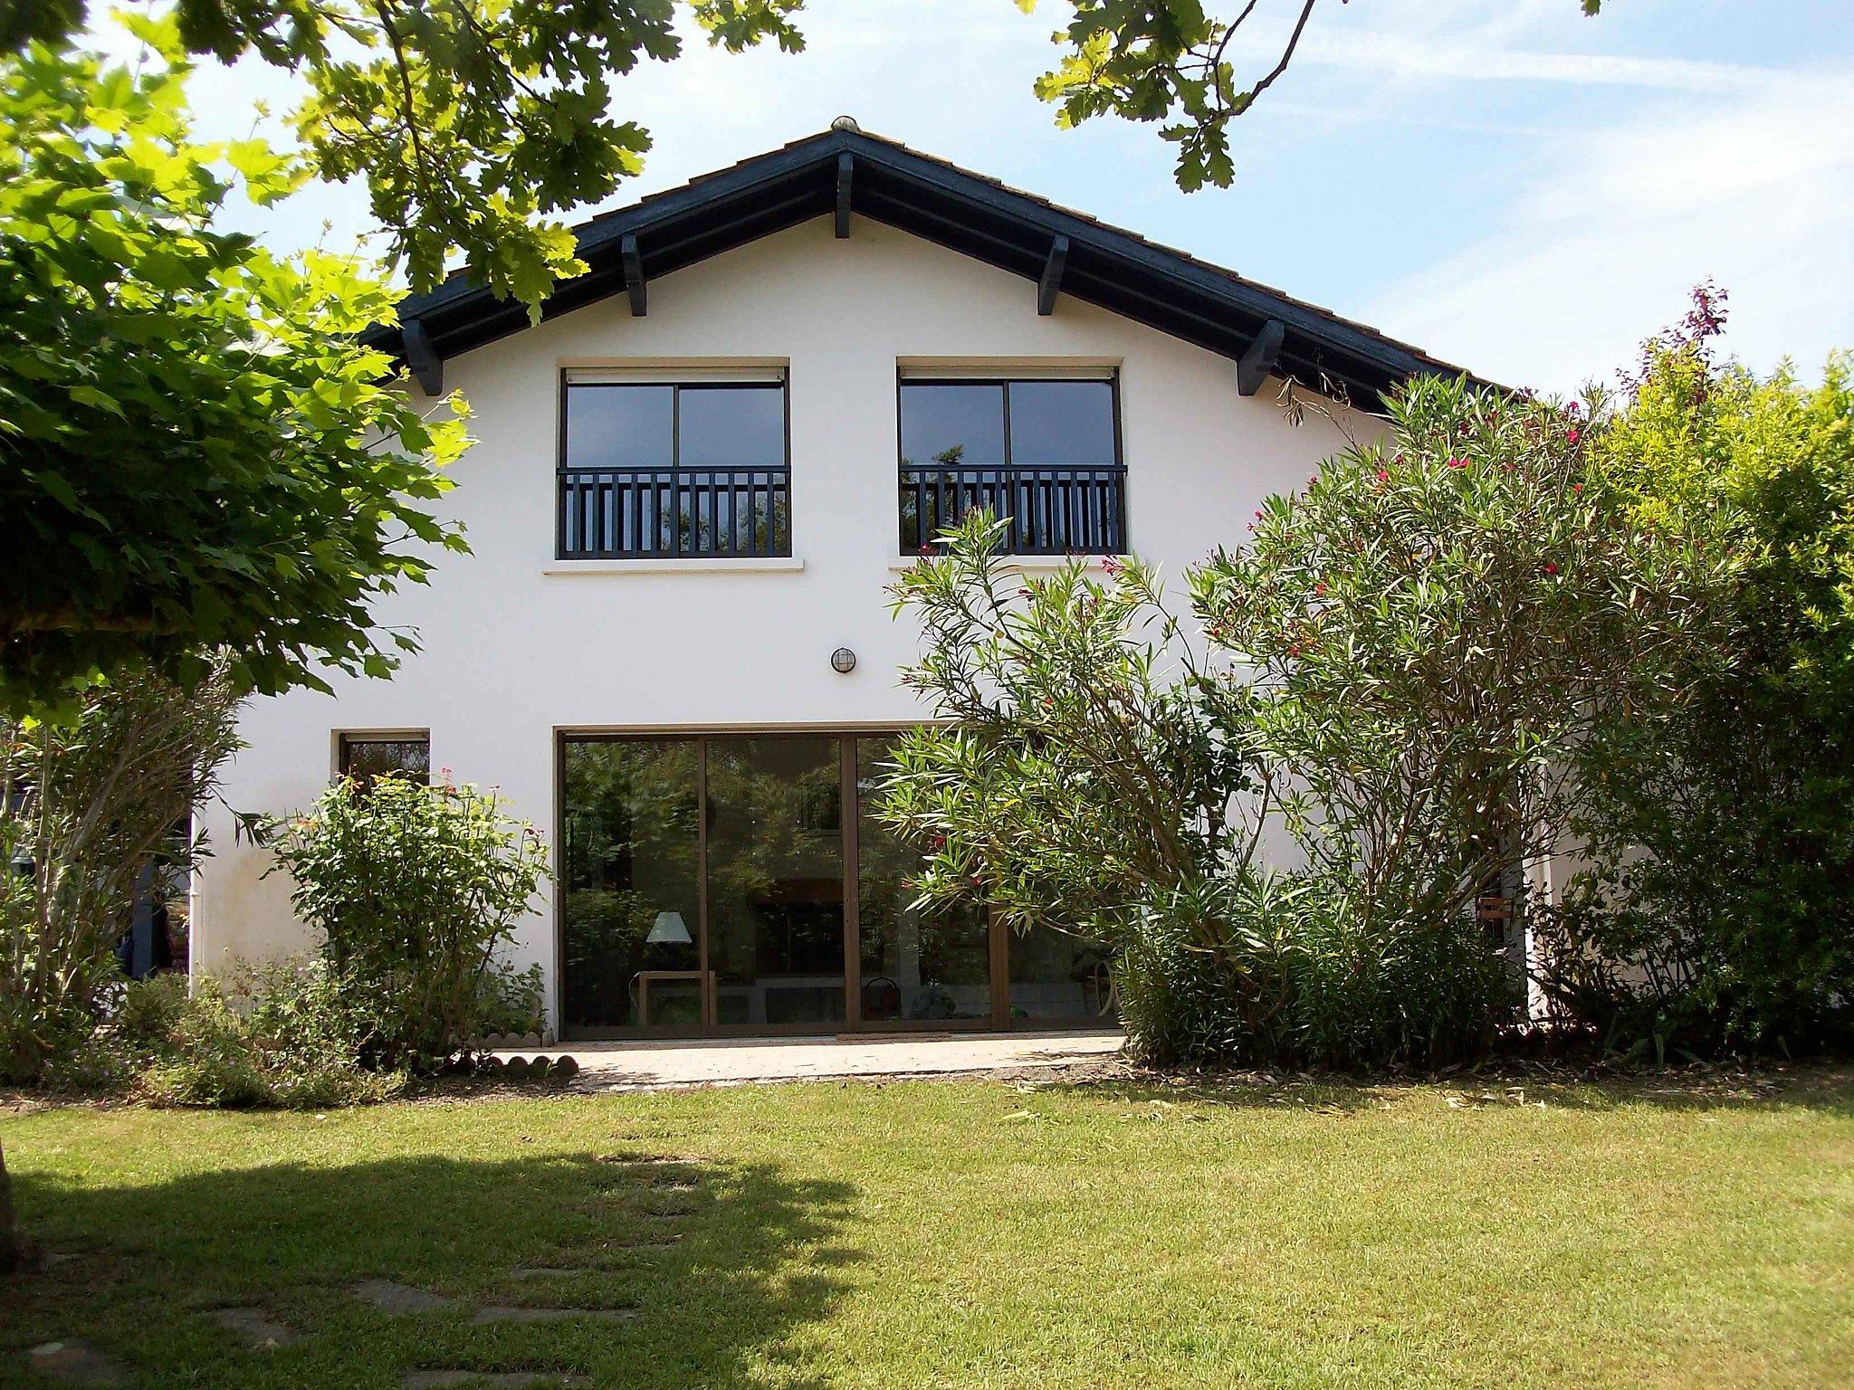
[[[927,545],[973,508],[1010,519],[1010,554],[1122,554],[1127,471],[1120,467],[901,467],[901,550]]]

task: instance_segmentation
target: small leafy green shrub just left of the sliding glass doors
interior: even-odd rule
[[[512,975],[495,953],[547,877],[547,847],[493,791],[343,778],[274,830],[297,916],[369,1001],[371,1060],[434,1068],[473,1036],[536,1027],[538,971]]]

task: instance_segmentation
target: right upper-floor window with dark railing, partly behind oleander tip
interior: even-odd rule
[[[901,550],[973,508],[1010,519],[1012,554],[1120,554],[1118,382],[901,378]]]

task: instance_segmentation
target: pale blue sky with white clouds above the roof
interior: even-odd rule
[[[1259,0],[1250,70],[1294,11]],[[808,0],[801,56],[695,39],[616,83],[654,148],[603,206],[851,115],[1509,385],[1613,374],[1706,278],[1758,371],[1815,378],[1854,347],[1854,0],[1609,0],[1594,19],[1578,0],[1322,0],[1233,126],[1235,183],[1192,195],[1153,126],[1055,126],[1031,83],[1062,19],[1057,0]],[[263,93],[273,74],[210,74],[202,133],[245,133]],[[280,248],[367,228],[336,187],[247,217]]]

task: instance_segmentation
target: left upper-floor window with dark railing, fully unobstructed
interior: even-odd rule
[[[562,393],[560,558],[792,554],[784,374]]]

